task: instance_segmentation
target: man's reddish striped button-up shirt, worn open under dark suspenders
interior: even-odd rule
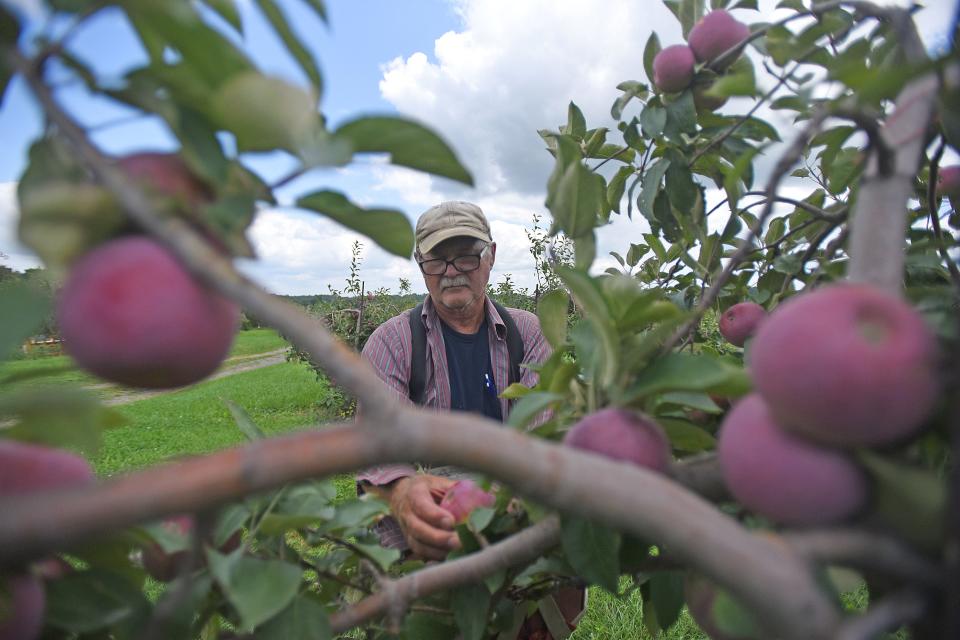
[[[496,307],[485,297],[488,339],[490,344],[490,366],[493,369],[494,384],[498,392],[507,388],[510,380],[510,353],[507,349],[507,327],[497,313]],[[522,309],[507,309],[513,319],[520,337],[523,339],[523,360],[520,366],[520,383],[533,387],[537,384],[538,374],[523,366],[525,363],[539,364],[550,357],[550,344],[540,331],[537,316]],[[423,304],[423,326],[426,329],[426,371],[424,381],[424,406],[432,409],[450,409],[450,375],[447,365],[447,351],[443,344],[443,331],[440,316],[427,296]],[[377,375],[387,383],[401,402],[410,400],[411,367],[410,311],[404,311],[390,318],[376,328],[363,347],[363,357],[373,365]],[[504,419],[509,413],[511,402],[500,398],[500,410]],[[411,465],[391,464],[367,469],[357,474],[358,482],[382,485],[399,478],[413,475],[416,469]]]

